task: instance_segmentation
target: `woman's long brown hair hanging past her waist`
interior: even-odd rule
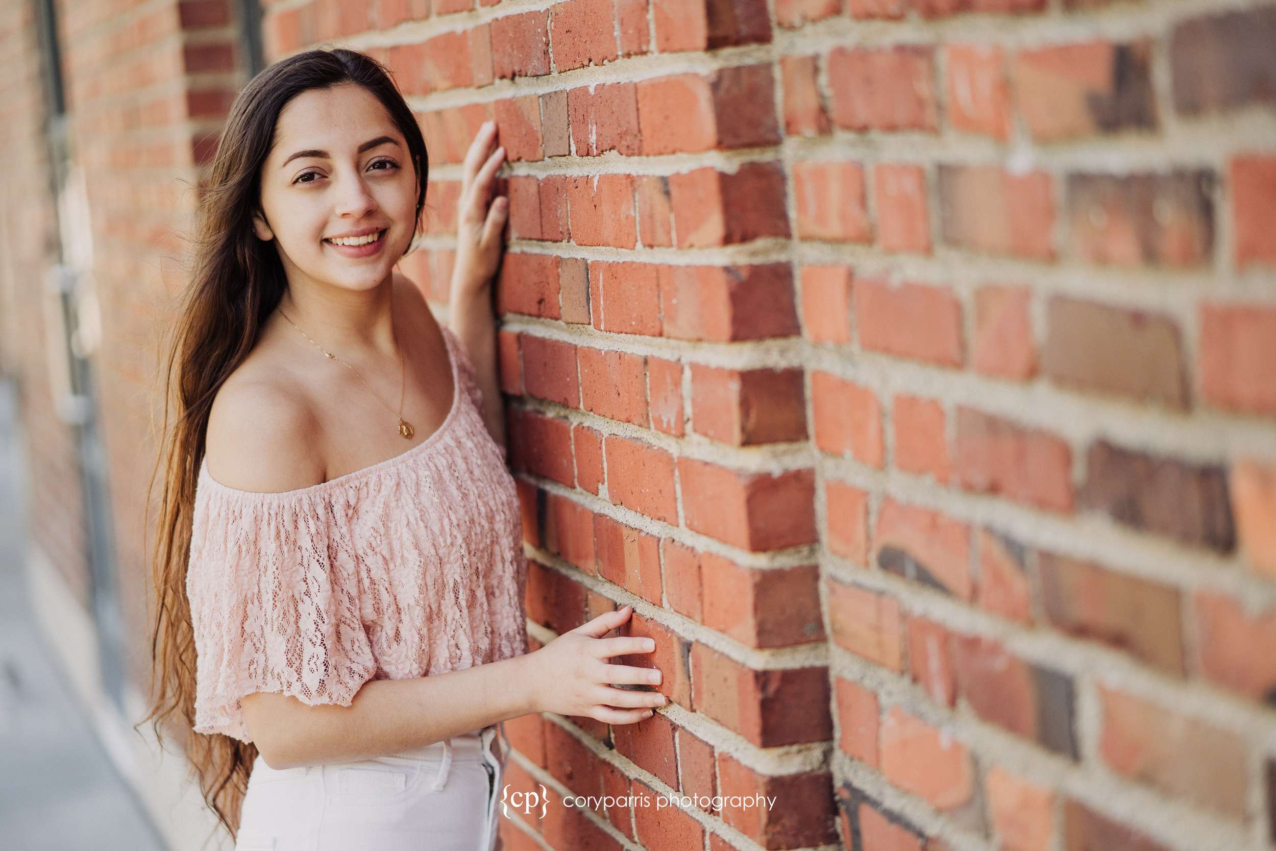
[[[311,50],[264,69],[240,91],[218,140],[216,158],[198,205],[190,282],[181,293],[160,366],[163,376],[161,448],[147,489],[149,517],[156,475],[163,467],[160,526],[153,550],[149,713],[163,743],[163,725],[190,762],[200,794],[234,838],[240,805],[258,750],[221,734],[193,731],[195,722],[195,642],[186,598],[195,481],[213,397],[248,357],[265,319],[283,296],[287,279],[274,242],[258,240],[262,165],[274,144],[283,107],[309,89],[342,83],[362,85],[398,126],[412,154],[419,191],[415,227],[425,207],[429,159],[425,139],[389,71],[352,50]],[[170,410],[172,427],[168,426]],[[145,521],[149,529],[149,522]]]

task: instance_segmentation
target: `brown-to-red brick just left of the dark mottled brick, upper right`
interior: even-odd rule
[[[1054,191],[1044,171],[939,166],[939,230],[956,248],[1054,259]]]

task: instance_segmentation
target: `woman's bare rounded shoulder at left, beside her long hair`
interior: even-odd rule
[[[277,492],[324,480],[313,399],[269,352],[254,352],[217,390],[204,453],[214,480],[237,490]]]

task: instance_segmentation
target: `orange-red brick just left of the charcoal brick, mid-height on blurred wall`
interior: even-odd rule
[[[1072,512],[1072,449],[1057,435],[957,407],[957,480],[1053,512]]]

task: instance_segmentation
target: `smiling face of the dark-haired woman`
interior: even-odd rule
[[[264,218],[254,214],[253,227],[259,239],[274,240],[290,283],[370,290],[412,241],[411,152],[385,107],[361,85],[310,89],[288,101],[260,182]],[[376,240],[333,242],[352,233]]]

